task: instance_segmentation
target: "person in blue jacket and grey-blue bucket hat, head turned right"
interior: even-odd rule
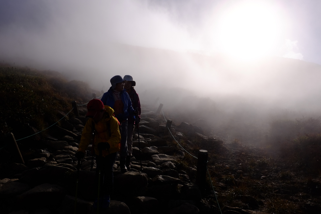
[[[104,105],[108,105],[115,111],[115,117],[121,123],[121,147],[120,147],[120,171],[127,172],[126,168],[126,156],[127,150],[127,118],[129,114],[136,114],[136,111],[132,107],[132,102],[124,89],[125,80],[117,75],[110,79],[111,87],[106,92],[101,101]]]

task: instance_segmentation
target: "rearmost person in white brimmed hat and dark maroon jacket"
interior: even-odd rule
[[[130,100],[132,101],[132,106],[135,110],[137,108],[137,111],[138,111],[138,115],[129,114],[129,117],[128,117],[128,132],[127,132],[128,156],[126,157],[126,167],[127,169],[128,168],[130,169],[130,158],[132,157],[132,153],[133,153],[133,131],[134,131],[134,127],[138,126],[138,124],[136,124],[137,118],[138,118],[138,122],[140,121],[141,106],[140,106],[138,94],[134,89],[136,82],[133,81],[133,77],[130,75],[125,75],[124,80],[127,81],[124,87],[126,89],[126,92],[129,94]]]

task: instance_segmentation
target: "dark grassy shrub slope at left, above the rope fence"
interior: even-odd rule
[[[57,111],[69,112],[71,101],[88,102],[89,86],[68,82],[55,71],[0,65],[0,136],[13,132],[18,138],[29,134],[29,126],[43,130],[55,123]]]

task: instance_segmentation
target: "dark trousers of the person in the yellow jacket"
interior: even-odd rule
[[[96,155],[96,196],[98,195],[99,186],[99,197],[113,194],[114,187],[114,174],[113,166],[117,157],[117,152],[111,153],[106,157]],[[99,171],[100,171],[100,184],[99,181]]]

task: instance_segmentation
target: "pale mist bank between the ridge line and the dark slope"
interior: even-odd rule
[[[160,97],[166,117],[173,122],[195,123],[203,119],[198,125],[207,129],[207,134],[229,140],[261,142],[269,134],[273,120],[321,115],[318,64],[278,57],[239,61],[222,55],[119,43],[100,47],[100,52],[96,50],[88,47],[86,52],[74,52],[64,62],[47,69],[58,70],[69,80],[81,80],[105,92],[112,76],[131,75],[142,102]],[[46,66],[28,63],[27,59],[21,62]]]

